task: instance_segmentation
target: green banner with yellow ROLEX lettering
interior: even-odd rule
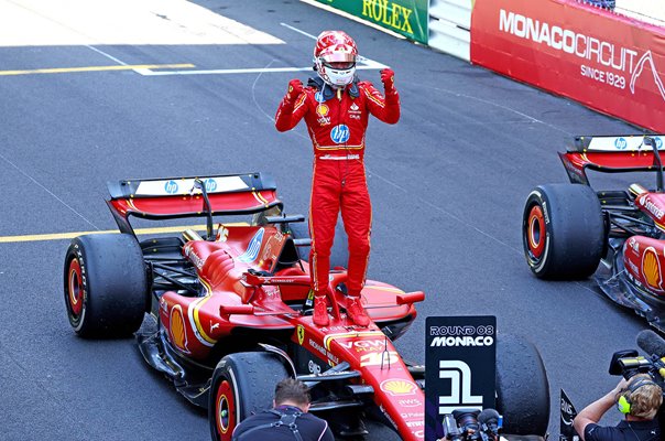
[[[317,0],[427,44],[429,0]]]

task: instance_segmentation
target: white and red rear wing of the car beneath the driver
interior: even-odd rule
[[[195,181],[206,186],[211,215],[253,214],[282,207],[272,176],[264,173],[166,178],[108,182],[107,201],[121,233],[133,234],[130,216],[145,219],[206,217],[205,200]]]

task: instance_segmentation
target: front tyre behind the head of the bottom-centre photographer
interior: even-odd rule
[[[275,385],[290,375],[266,352],[242,352],[221,358],[212,374],[208,421],[214,441],[230,441],[236,427],[253,413],[272,408]]]

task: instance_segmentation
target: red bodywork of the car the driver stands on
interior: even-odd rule
[[[248,273],[250,268],[268,271],[274,267],[286,244],[286,236],[276,227],[228,226],[222,232],[224,240],[193,240],[183,248],[198,269],[207,294],[166,292],[160,300],[160,320],[173,346],[189,358],[204,361],[233,329],[292,330],[291,340],[326,364],[347,362],[360,372],[359,381],[373,387],[377,404],[395,421],[404,439],[424,439],[424,394],[383,332],[374,323],[355,326],[344,314],[334,318],[330,326],[317,327],[310,315],[293,310],[287,302],[304,302],[309,292],[307,262],[303,269],[290,267],[274,277]],[[334,284],[346,279],[346,272],[331,275]],[[415,318],[413,302],[423,298],[375,281],[368,281],[362,291],[362,302],[374,321]],[[345,301],[335,291],[338,309]],[[226,313],[226,309],[240,313]]]

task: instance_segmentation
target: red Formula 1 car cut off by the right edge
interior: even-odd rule
[[[526,262],[542,279],[596,273],[600,290],[665,332],[665,136],[576,137],[559,153],[569,184],[536,186],[522,218]],[[653,172],[656,186],[593,191],[587,170]],[[600,263],[600,266],[599,266]]]

